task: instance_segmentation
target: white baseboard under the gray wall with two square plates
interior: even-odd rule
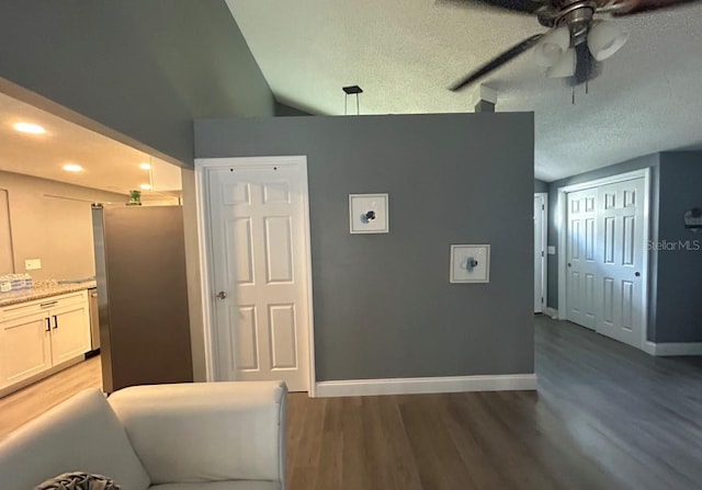
[[[536,389],[535,374],[446,376],[429,378],[347,379],[320,381],[317,397],[445,394],[456,391],[507,391]]]

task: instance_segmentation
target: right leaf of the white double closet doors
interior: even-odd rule
[[[641,347],[644,265],[644,179],[603,185],[598,198],[602,311],[597,331]]]

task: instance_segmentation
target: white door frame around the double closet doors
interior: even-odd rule
[[[634,170],[632,172],[620,173],[616,175],[595,179],[577,184],[565,185],[558,187],[558,201],[556,204],[556,227],[558,229],[558,320],[566,320],[567,298],[566,298],[566,231],[568,216],[567,194],[575,191],[584,191],[586,189],[599,187],[605,184],[614,184],[618,182],[630,181],[634,179],[644,179],[644,233],[643,250],[644,263],[642,264],[642,316],[644,319],[644,328],[642,329],[641,345],[638,349],[644,350],[648,340],[648,240],[650,239],[650,168]]]

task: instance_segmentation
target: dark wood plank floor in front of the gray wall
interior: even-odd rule
[[[702,488],[702,357],[536,319],[537,391],[309,399],[288,490]]]

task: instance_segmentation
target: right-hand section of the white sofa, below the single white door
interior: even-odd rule
[[[217,485],[238,490],[279,487],[236,480],[284,479],[285,392],[282,381],[195,383],[129,387],[109,401],[152,485],[235,480]]]

